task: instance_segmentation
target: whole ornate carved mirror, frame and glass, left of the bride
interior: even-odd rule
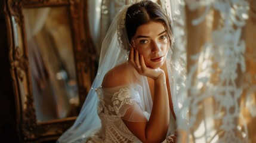
[[[95,77],[87,2],[5,0],[5,9],[20,142],[54,141]]]

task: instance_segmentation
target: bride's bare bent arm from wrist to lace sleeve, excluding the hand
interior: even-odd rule
[[[155,96],[148,122],[123,120],[127,128],[142,142],[162,142],[166,138],[169,125],[169,103],[164,81],[165,76],[155,80]],[[141,113],[138,113],[138,116],[141,116]]]

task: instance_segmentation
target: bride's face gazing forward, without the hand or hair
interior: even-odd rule
[[[143,55],[147,67],[156,69],[164,65],[169,37],[163,23],[151,21],[139,26],[132,42],[135,49]]]

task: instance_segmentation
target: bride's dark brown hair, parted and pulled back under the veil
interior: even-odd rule
[[[131,38],[135,35],[137,28],[150,21],[164,23],[169,39],[171,39],[171,23],[160,5],[152,1],[140,1],[128,8],[125,17],[129,42],[131,42]]]

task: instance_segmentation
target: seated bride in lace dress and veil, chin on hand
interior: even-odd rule
[[[103,41],[93,90],[75,124],[58,141],[163,142],[171,137],[170,47],[169,18],[158,4],[124,6]]]

